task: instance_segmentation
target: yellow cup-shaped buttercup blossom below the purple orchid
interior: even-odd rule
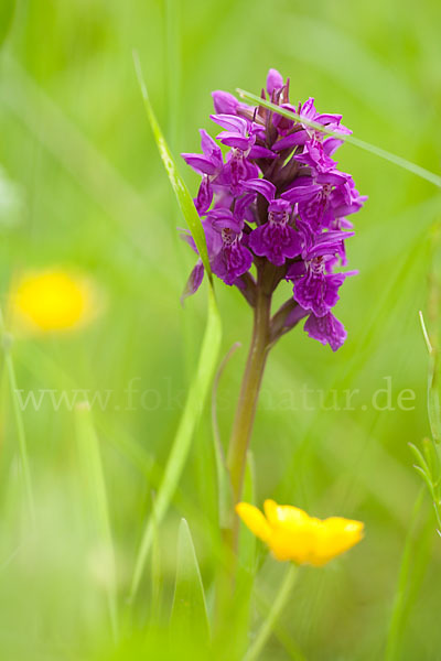
[[[364,524],[341,517],[315,519],[290,505],[263,503],[265,514],[239,502],[236,512],[250,531],[271,549],[277,560],[320,567],[363,539]]]

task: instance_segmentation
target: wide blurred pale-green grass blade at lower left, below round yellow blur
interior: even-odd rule
[[[79,456],[90,492],[90,506],[96,512],[96,531],[109,560],[109,574],[106,581],[107,602],[114,639],[118,639],[118,606],[116,594],[116,561],[110,529],[109,506],[104,477],[99,442],[87,402],[76,409],[77,441]]]

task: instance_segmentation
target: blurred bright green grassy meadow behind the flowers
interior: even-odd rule
[[[66,405],[56,411],[50,400],[39,411],[23,412],[35,491],[33,531],[3,373],[0,655],[7,661],[168,659],[161,650],[181,517],[192,530],[208,602],[218,561],[209,407],[131,607],[127,595],[195,369],[206,285],[181,306],[194,256],[178,238],[184,220],[146,119],[132,50],[175,154],[198,150],[200,127],[215,134],[208,118],[213,89],[258,93],[268,68],[277,67],[291,77],[293,102],[314,96],[321,111],[342,112],[356,137],[439,172],[441,6],[435,0],[418,6],[19,0],[15,7],[1,1],[0,289],[7,322],[8,292],[23,269],[77,270],[94,279],[100,297],[100,312],[85,328],[15,338],[18,387],[111,395],[105,410],[92,411],[108,494],[109,517],[98,523],[82,468],[82,434],[90,432],[82,412]],[[319,517],[361,519],[366,539],[329,567],[301,572],[261,658],[381,659],[408,544],[396,658],[433,661],[441,655],[441,542],[428,497],[411,525],[422,483],[407,444],[430,433],[418,311],[428,310],[429,274],[437,279],[441,243],[433,228],[441,196],[432,184],[352,145],[338,156],[369,196],[348,241],[349,266],[359,275],[346,282],[337,307],[348,339],[332,354],[297,329],[272,351],[251,448],[255,500],[260,506],[275,498]],[[181,172],[195,193],[197,177],[185,165]],[[222,354],[243,344],[219,384],[226,438],[251,315],[237,291],[219,284]],[[289,292],[287,285],[287,297]],[[427,314],[433,332],[437,307],[435,302]],[[128,401],[130,382],[139,392]],[[378,411],[372,398],[387,383],[391,405]],[[313,391],[308,405],[305,388]],[[353,410],[320,407],[319,391],[331,389],[343,403],[345,390],[358,390]],[[405,389],[416,395],[407,402],[409,411],[397,404]],[[386,394],[378,401],[384,407]],[[109,529],[117,567],[116,646],[106,596],[111,557],[103,543]],[[270,603],[284,567],[262,551],[260,563],[257,584]],[[254,626],[259,618],[254,607]],[[193,642],[189,635],[175,658],[192,658]]]

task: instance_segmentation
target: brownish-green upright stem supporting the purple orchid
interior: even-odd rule
[[[272,279],[267,283],[263,279],[263,273],[260,273],[260,275],[256,295],[251,345],[241,382],[227,456],[227,467],[236,502],[240,500],[243,492],[247,451],[270,340]]]

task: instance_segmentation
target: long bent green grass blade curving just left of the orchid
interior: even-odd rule
[[[161,128],[154,116],[153,108],[151,107],[149,96],[147,93],[147,86],[142,76],[141,65],[137,53],[133,53],[133,62],[142,98],[146,106],[147,116],[152,127],[162,162],[169,175],[173,191],[176,195],[181,212],[193,235],[198,253],[205,267],[205,272],[208,277],[207,323],[202,343],[196,373],[190,386],[189,394],[184,405],[184,411],[178,426],[173,445],[170,451],[170,456],[165,466],[163,479],[158,490],[158,496],[154,503],[154,521],[159,525],[163,517],[165,516],[165,512],[178,487],[182,470],[185,465],[186,457],[190,452],[194,430],[198,423],[205,400],[207,398],[209,383],[213,379],[213,375],[217,364],[217,356],[220,347],[222,326],[213,289],[213,278],[208,261],[208,252],[205,242],[204,230],[201,225],[201,220],[195,209],[193,199],[184,182],[178,173],[178,169],[174,164],[170,149],[165,142]],[[153,524],[152,519],[150,519],[149,521],[147,521],[147,525],[141,540],[141,545],[135,563],[135,571],[129,593],[129,602],[132,602],[137,594],[142,572],[146,565],[147,556],[151,548],[152,535]]]

